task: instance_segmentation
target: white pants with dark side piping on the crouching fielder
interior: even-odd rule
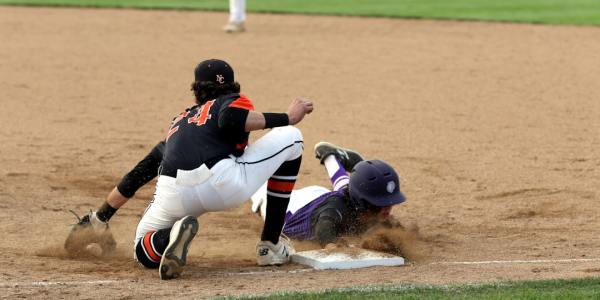
[[[285,161],[302,155],[299,129],[286,126],[271,130],[246,148],[212,167],[181,171],[177,178],[159,176],[154,199],[138,224],[134,245],[144,234],[173,224],[187,215],[221,211],[248,200]]]

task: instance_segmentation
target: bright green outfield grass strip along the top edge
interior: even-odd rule
[[[6,5],[227,10],[227,0],[0,0]],[[251,12],[600,25],[600,0],[249,0]]]

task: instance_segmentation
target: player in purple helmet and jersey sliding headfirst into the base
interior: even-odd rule
[[[320,142],[316,157],[325,165],[333,191],[321,186],[294,190],[283,233],[299,240],[316,239],[326,246],[341,235],[357,235],[385,221],[393,205],[405,201],[394,169],[381,160],[363,160],[355,151]],[[347,172],[352,172],[349,176]],[[252,196],[252,210],[268,216],[268,189]]]

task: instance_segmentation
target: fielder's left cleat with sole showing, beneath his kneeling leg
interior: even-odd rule
[[[181,275],[190,242],[197,232],[198,220],[193,216],[186,216],[173,224],[169,235],[169,245],[160,260],[160,279],[168,280]]]

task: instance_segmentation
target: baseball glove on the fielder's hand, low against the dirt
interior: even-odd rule
[[[86,254],[108,256],[115,251],[117,242],[110,232],[108,223],[100,221],[96,217],[96,212],[90,211],[81,218],[72,210],[70,212],[77,217],[77,223],[73,225],[65,240],[67,253],[73,256]],[[93,244],[97,244],[101,248],[101,253],[89,252],[89,247]]]

